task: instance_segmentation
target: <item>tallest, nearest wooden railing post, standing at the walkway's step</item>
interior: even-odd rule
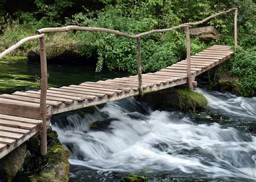
[[[46,63],[46,49],[45,49],[45,38],[39,38],[40,45],[40,59],[41,59],[41,94],[40,94],[40,112],[41,112],[41,144],[40,151],[41,155],[46,155],[47,153],[47,108],[46,108],[46,92],[47,92],[47,82],[48,82],[48,74],[47,74],[47,63]]]

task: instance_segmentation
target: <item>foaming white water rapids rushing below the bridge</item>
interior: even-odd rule
[[[197,91],[219,114],[256,121],[255,97]],[[71,165],[98,173],[255,180],[255,136],[215,122],[198,124],[180,111],[152,111],[133,98],[60,114],[52,128],[71,151]]]

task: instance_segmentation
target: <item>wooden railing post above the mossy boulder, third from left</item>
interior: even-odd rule
[[[191,76],[191,58],[190,58],[190,29],[185,27],[186,42],[187,42],[187,84],[188,89],[193,90],[192,76]]]

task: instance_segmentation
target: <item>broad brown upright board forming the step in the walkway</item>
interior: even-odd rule
[[[39,104],[0,98],[0,114],[39,119]],[[49,110],[51,108],[48,108]]]

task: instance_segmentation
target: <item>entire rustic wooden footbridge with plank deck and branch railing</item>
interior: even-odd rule
[[[61,28],[45,28],[37,31],[37,35],[22,39],[0,54],[15,50],[26,41],[39,39],[41,51],[42,86],[38,91],[15,92],[11,95],[0,95],[0,158],[7,155],[30,137],[41,134],[41,153],[46,155],[46,127],[52,115],[79,108],[95,106],[126,97],[136,96],[157,90],[187,85],[189,89],[196,86],[195,77],[221,62],[232,57],[230,46],[214,45],[196,55],[190,55],[190,27],[206,22],[206,20],[234,10],[234,43],[237,46],[237,9],[220,12],[200,22],[181,24],[170,29],[152,30],[137,35],[129,35],[115,30],[97,27],[66,26]],[[187,40],[187,59],[177,62],[155,73],[142,74],[140,37],[147,34],[166,32],[185,28]],[[68,30],[102,31],[137,40],[138,75],[97,82],[84,82],[68,87],[47,88],[47,67],[44,33]]]

